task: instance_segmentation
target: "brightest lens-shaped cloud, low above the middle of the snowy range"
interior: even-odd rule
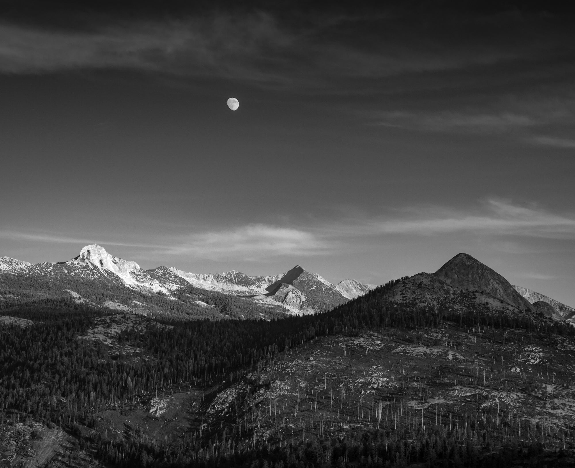
[[[302,229],[249,224],[236,229],[194,233],[160,247],[168,255],[210,260],[258,260],[283,255],[328,253],[327,241]]]

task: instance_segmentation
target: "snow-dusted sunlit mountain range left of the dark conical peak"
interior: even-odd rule
[[[310,273],[300,265],[283,274],[250,276],[240,271],[232,270],[226,273],[198,274],[188,273],[174,267],[160,266],[144,270],[131,260],[125,260],[106,252],[97,244],[86,245],[79,255],[67,262],[44,262],[30,264],[9,257],[0,258],[0,274],[13,279],[20,278],[23,282],[56,282],[63,285],[63,291],[68,291],[76,302],[93,301],[113,309],[135,310],[144,313],[159,312],[154,304],[148,304],[147,297],[163,296],[166,300],[182,301],[178,291],[189,289],[196,291],[213,291],[213,293],[237,296],[250,300],[263,309],[282,310],[286,314],[316,313],[333,308],[350,299],[367,293],[374,285],[363,285],[354,279],[345,279],[333,285],[319,274]],[[127,300],[112,301],[102,297],[85,298],[69,283],[81,282],[87,285],[99,285],[115,289]],[[128,288],[140,293],[139,298],[133,294],[122,293]],[[188,294],[195,297],[188,301],[194,308],[209,309],[208,296]],[[209,295],[213,300],[213,294]],[[217,297],[217,296],[216,296]],[[157,302],[157,301],[156,301]],[[126,309],[127,308],[127,309]],[[168,306],[169,308],[169,306]],[[164,309],[166,307],[164,306]],[[266,316],[266,313],[263,313]]]

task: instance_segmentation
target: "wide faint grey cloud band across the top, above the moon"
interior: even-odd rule
[[[0,72],[117,68],[321,87],[338,78],[489,66],[545,56],[556,46],[481,41],[471,34],[453,44],[435,37],[434,28],[399,27],[393,16],[310,17],[297,28],[280,20],[263,11],[219,13],[179,21],[110,21],[83,32],[0,23]],[[508,18],[499,34],[522,24]],[[369,40],[359,40],[366,31]]]

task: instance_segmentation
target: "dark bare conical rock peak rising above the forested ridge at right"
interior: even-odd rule
[[[468,254],[457,254],[434,275],[448,285],[471,291],[484,291],[520,310],[534,310],[509,281]]]

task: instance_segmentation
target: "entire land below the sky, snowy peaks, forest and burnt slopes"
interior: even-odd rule
[[[3,257],[0,466],[575,465],[575,309],[467,254],[435,268]]]

